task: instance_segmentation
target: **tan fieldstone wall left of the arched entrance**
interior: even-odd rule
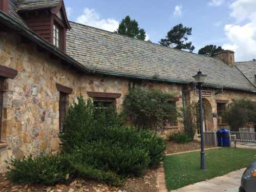
[[[63,66],[49,53],[38,51],[33,44],[23,44],[15,33],[0,32],[0,65],[18,71],[14,79],[5,79],[4,119],[0,144],[0,172],[5,160],[11,157],[53,153],[59,146],[59,92],[56,83],[73,89],[70,101],[80,94],[88,98],[87,91],[121,93],[116,100],[117,110],[122,109],[123,97],[134,83],[129,79],[84,75]],[[136,82],[138,83],[138,82]],[[182,97],[182,86],[177,84],[139,82],[147,88],[157,88]],[[182,107],[182,99],[177,102]],[[170,127],[166,132],[182,129]]]

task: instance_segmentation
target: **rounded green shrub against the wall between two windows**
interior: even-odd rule
[[[135,87],[124,97],[123,115],[135,126],[148,130],[161,129],[166,120],[176,122],[179,116],[176,106],[168,103],[169,99],[175,99],[174,94]]]

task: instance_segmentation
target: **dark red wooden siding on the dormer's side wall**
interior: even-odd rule
[[[40,16],[37,18],[27,18],[26,22],[30,29],[32,29],[36,34],[45,38],[51,42],[51,17],[50,16]]]

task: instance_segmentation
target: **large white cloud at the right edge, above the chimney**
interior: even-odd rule
[[[251,60],[256,57],[256,1],[236,0],[230,5],[230,16],[236,19],[236,24],[224,27],[228,42],[224,49],[236,52],[236,60]],[[244,22],[243,24],[240,24]]]

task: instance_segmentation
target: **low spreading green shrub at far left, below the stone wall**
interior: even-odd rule
[[[66,181],[66,175],[73,174],[67,156],[40,155],[22,160],[12,159],[7,168],[7,178],[16,183],[42,183],[53,185]]]

